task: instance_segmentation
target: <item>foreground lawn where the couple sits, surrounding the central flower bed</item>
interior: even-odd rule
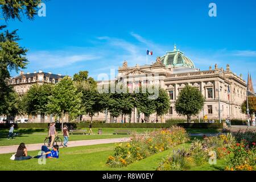
[[[140,160],[125,168],[110,168],[106,166],[106,160],[113,154],[113,149],[117,144],[98,144],[93,146],[70,147],[60,149],[59,159],[46,159],[45,165],[40,165],[38,159],[23,161],[10,160],[11,154],[0,155],[0,170],[11,171],[30,171],[30,170],[83,170],[83,171],[155,171],[159,163],[170,155],[173,148],[158,154],[152,155],[146,159]],[[181,144],[175,148],[188,148],[190,143]],[[38,151],[29,152],[29,155],[35,156]],[[224,169],[224,162],[218,161],[216,166],[206,164],[204,166],[191,168],[191,170],[220,170]]]

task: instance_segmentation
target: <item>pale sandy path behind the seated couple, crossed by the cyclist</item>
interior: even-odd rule
[[[93,144],[105,144],[105,143],[119,143],[119,142],[129,142],[130,138],[108,138],[108,139],[94,139],[94,140],[76,140],[69,141],[68,147],[77,146],[90,146]],[[28,151],[40,150],[42,143],[36,144],[26,144]],[[0,154],[15,153],[17,151],[18,145],[16,146],[2,146],[0,147]]]

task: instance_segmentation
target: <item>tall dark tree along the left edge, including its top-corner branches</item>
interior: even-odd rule
[[[21,20],[20,14],[26,14],[28,19],[33,19],[38,5],[41,0],[0,0],[1,15],[5,20],[18,19]],[[5,25],[0,26],[0,30],[6,28]],[[15,95],[13,87],[9,85],[10,71],[26,68],[27,49],[20,47],[17,43],[19,36],[16,31],[0,33],[0,114],[17,114],[19,104],[18,96]],[[17,101],[17,102],[13,102]],[[11,107],[10,107],[11,106]],[[16,109],[15,109],[16,107]]]

